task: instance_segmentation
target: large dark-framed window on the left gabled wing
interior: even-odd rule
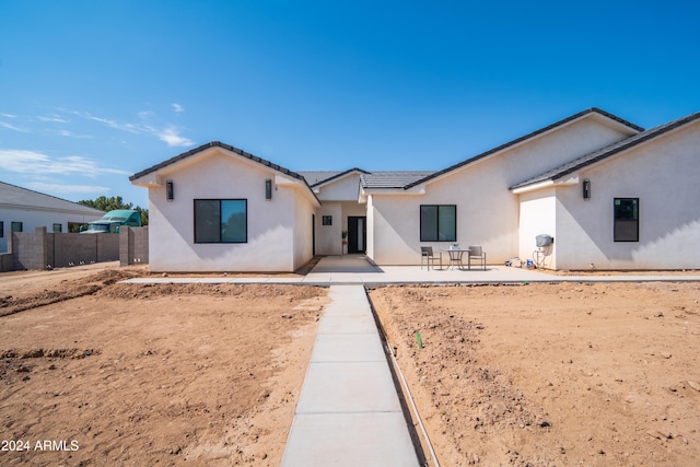
[[[247,241],[247,200],[195,200],[195,243],[246,243]]]

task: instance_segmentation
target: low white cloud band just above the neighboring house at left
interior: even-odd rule
[[[20,174],[100,176],[105,174],[130,175],[119,168],[103,167],[92,159],[80,155],[51,159],[46,154],[26,150],[0,150],[0,166]]]

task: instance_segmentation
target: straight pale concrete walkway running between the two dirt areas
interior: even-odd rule
[[[331,285],[282,467],[418,466],[362,285]]]

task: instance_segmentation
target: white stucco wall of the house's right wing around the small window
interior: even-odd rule
[[[700,122],[587,167],[557,189],[557,268],[700,269]],[[639,242],[614,242],[614,199],[639,198]]]

